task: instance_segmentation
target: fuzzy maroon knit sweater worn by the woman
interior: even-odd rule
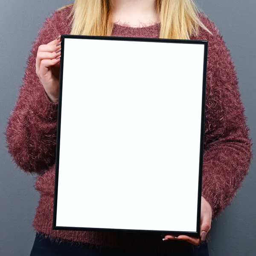
[[[163,241],[159,234],[52,230],[58,103],[49,101],[36,75],[35,60],[39,45],[49,43],[60,34],[70,34],[71,18],[67,19],[67,16],[71,8],[54,12],[40,28],[27,58],[23,85],[6,126],[7,148],[13,161],[24,172],[37,174],[35,189],[41,196],[33,227],[50,239],[67,239],[79,244],[86,242],[98,246],[147,248],[151,251],[186,247],[189,245],[186,241]],[[217,26],[202,14],[200,18],[213,34],[200,28],[200,34],[191,37],[194,40],[208,40],[202,196],[209,202],[213,217],[216,217],[231,204],[237,189],[241,187],[253,154],[229,49]],[[159,38],[159,31],[159,24],[143,28],[115,24],[112,35]],[[150,73],[145,76],[150,76]],[[163,215],[168,218],[168,213]]]

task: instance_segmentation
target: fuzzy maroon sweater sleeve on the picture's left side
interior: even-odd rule
[[[58,102],[52,103],[35,71],[38,47],[59,35],[56,12],[46,18],[26,58],[23,84],[9,116],[7,149],[17,166],[26,173],[43,173],[55,162]]]

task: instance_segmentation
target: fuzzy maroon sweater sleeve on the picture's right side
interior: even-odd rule
[[[253,154],[230,50],[213,22],[209,28],[202,196],[216,218],[241,187]]]

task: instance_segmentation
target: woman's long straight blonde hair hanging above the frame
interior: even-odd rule
[[[73,15],[71,35],[111,35],[113,6],[110,0],[75,0],[57,11],[68,6],[73,6],[68,16]],[[204,12],[194,0],[156,0],[155,7],[160,17],[160,38],[190,39],[198,35],[199,26],[212,35],[198,16]]]

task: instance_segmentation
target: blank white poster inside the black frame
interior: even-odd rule
[[[204,44],[64,38],[63,57],[56,226],[196,232]]]

